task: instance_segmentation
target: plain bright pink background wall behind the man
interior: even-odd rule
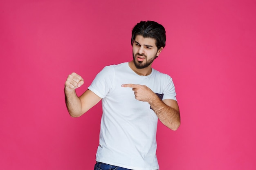
[[[101,104],[65,108],[76,72],[87,89],[106,65],[132,60],[131,29],[166,28],[153,67],[174,79],[182,124],[159,123],[161,170],[255,170],[254,0],[1,0],[0,169],[93,169]]]

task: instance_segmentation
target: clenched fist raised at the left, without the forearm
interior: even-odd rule
[[[74,91],[76,88],[81,87],[83,83],[83,78],[80,75],[72,73],[68,75],[67,80],[65,82],[65,91]]]

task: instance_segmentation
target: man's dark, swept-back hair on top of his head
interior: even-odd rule
[[[144,38],[153,38],[156,40],[157,49],[165,46],[166,35],[164,26],[155,21],[141,21],[137,23],[132,29],[131,43],[135,41],[137,35]]]

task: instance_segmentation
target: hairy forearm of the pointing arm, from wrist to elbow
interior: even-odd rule
[[[165,104],[159,97],[149,102],[151,108],[159,120],[171,130],[177,130],[180,126],[180,111]]]

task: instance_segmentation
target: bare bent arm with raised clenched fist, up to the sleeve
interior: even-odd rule
[[[65,82],[65,102],[71,117],[80,117],[101,100],[90,90],[78,97],[75,89],[81,87],[83,83],[83,78],[76,73],[69,75]]]

